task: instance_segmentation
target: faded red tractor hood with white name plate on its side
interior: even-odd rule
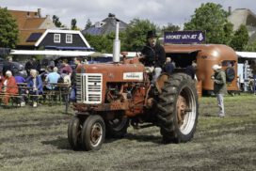
[[[101,63],[86,64],[77,68],[77,73],[102,73],[105,82],[142,82],[143,64]]]

